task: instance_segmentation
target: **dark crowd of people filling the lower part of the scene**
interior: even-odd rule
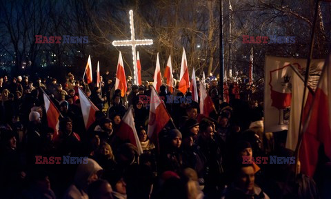
[[[200,83],[197,78],[198,88]],[[217,78],[205,83],[214,112],[201,117],[194,101],[165,103],[173,123],[151,140],[150,105],[141,100],[151,94],[148,81],[134,85],[128,79],[123,98],[109,73],[101,87],[76,81],[71,73],[65,83],[3,76],[0,198],[319,198],[314,180],[294,177],[298,168],[292,165],[243,164],[243,156],[294,156],[284,147],[287,132],[263,133],[260,105],[231,96],[230,104],[220,103]],[[88,129],[79,87],[100,110]],[[61,112],[58,134],[48,127],[44,92]],[[168,95],[192,96],[178,90],[170,94],[162,85],[159,96]],[[128,107],[134,110],[143,154],[117,136]],[[83,160],[63,164],[65,157]]]

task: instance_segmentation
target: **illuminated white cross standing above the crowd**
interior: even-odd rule
[[[137,56],[136,56],[136,45],[152,45],[152,39],[134,39],[134,23],[133,23],[133,11],[130,10],[130,29],[131,29],[131,39],[130,40],[119,40],[113,41],[112,45],[114,46],[132,46],[132,59],[133,59],[133,71],[134,71],[134,84],[138,84],[138,72],[137,70]]]

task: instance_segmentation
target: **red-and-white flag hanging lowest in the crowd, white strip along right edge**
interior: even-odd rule
[[[132,107],[130,107],[123,116],[119,130],[117,131],[117,136],[123,141],[129,140],[132,145],[137,147],[139,155],[143,154],[137,130],[134,126]]]

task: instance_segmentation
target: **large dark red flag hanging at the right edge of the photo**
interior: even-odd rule
[[[301,171],[312,177],[319,160],[319,147],[331,159],[331,54],[323,67],[313,100],[308,96],[305,109],[310,111],[303,118],[303,138],[299,151]]]

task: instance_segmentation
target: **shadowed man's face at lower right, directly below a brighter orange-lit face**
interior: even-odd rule
[[[254,169],[253,167],[241,168],[239,179],[237,180],[237,186],[243,191],[253,191],[254,189]]]

